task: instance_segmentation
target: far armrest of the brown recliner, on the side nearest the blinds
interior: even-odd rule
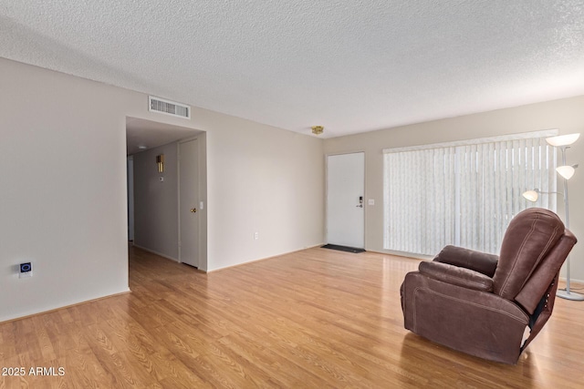
[[[448,263],[493,277],[499,257],[495,254],[449,245],[444,247],[433,261]]]

